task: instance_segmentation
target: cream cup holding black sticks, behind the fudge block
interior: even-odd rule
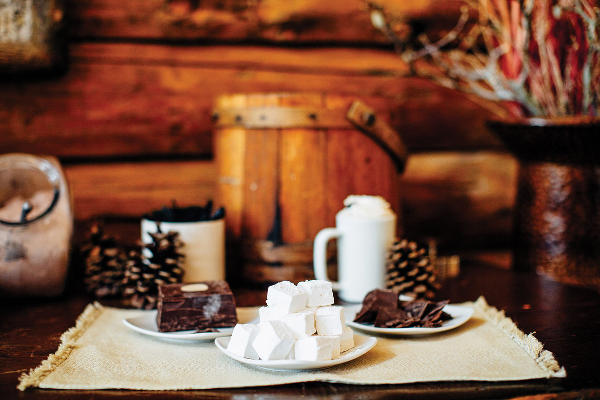
[[[159,222],[160,230],[179,232],[184,242],[181,253],[184,283],[225,279],[225,220]],[[149,232],[157,231],[156,221],[142,219],[142,242],[151,243]]]

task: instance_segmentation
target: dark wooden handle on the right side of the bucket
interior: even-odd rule
[[[396,167],[399,174],[404,171],[408,158],[408,149],[397,133],[382,118],[377,118],[376,113],[362,101],[355,100],[350,105],[346,118],[359,131],[370,137],[385,151]]]

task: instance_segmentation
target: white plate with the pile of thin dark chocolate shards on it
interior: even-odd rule
[[[428,335],[461,326],[473,308],[448,300],[413,299],[389,289],[370,291],[362,304],[345,306],[346,324],[369,333]]]

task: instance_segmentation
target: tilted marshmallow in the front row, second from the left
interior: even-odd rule
[[[292,350],[294,335],[281,321],[260,324],[259,333],[252,346],[262,360],[283,360]]]

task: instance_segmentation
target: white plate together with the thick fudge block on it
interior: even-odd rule
[[[125,318],[123,323],[163,339],[213,340],[231,335],[238,313],[225,281],[163,284],[158,287],[156,310]]]

